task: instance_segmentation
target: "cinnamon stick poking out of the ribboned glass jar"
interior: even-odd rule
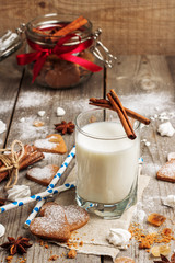
[[[84,19],[82,15],[78,19],[75,19],[74,21],[72,21],[70,24],[66,25],[65,27],[62,27],[61,30],[57,31],[52,36],[63,36],[67,35],[78,28],[80,28],[81,26],[83,26],[84,24],[88,23],[88,20]]]

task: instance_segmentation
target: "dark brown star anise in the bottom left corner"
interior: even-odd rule
[[[16,253],[24,254],[26,253],[26,249],[31,248],[32,244],[28,243],[28,238],[19,237],[16,240],[12,237],[8,237],[9,242],[1,244],[0,247],[3,249],[8,249],[11,255]]]

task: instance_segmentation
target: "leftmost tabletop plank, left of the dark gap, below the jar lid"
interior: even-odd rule
[[[16,66],[14,56],[0,62],[0,119],[7,125],[7,130],[0,134],[0,148],[5,142],[21,78],[22,68]]]

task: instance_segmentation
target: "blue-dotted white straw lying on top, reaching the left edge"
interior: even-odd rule
[[[32,203],[34,201],[40,201],[49,195],[52,195],[52,194],[57,194],[57,193],[61,193],[63,191],[67,191],[69,188],[73,188],[75,187],[75,182],[70,182],[70,183],[66,183],[63,185],[60,185],[58,187],[55,187],[55,188],[49,188],[47,191],[44,191],[39,194],[35,194],[35,195],[32,195],[30,197],[25,197],[25,198],[21,198],[19,201],[15,201],[11,204],[8,204],[8,205],[4,205],[4,206],[1,206],[0,207],[0,213],[4,213],[7,210],[11,210],[13,208],[16,208],[19,206],[23,206],[25,204],[28,204],[28,203]]]

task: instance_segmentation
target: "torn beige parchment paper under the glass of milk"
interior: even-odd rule
[[[75,169],[70,172],[67,182],[75,180]],[[140,175],[139,169],[139,182],[138,182],[138,202],[141,199],[144,188],[150,181],[149,176]],[[56,203],[60,205],[72,205],[75,203],[75,191],[70,190],[58,195]],[[90,215],[90,221],[82,228],[75,230],[72,233],[71,249],[75,249],[78,253],[94,254],[94,255],[108,255],[115,260],[119,253],[119,249],[109,244],[106,237],[110,228],[124,228],[128,229],[136,205],[126,210],[119,219],[105,220],[95,215]],[[80,245],[83,242],[83,245]],[[58,243],[61,247],[68,248],[65,243]],[[82,243],[81,243],[82,244]],[[69,248],[70,249],[70,248]]]

